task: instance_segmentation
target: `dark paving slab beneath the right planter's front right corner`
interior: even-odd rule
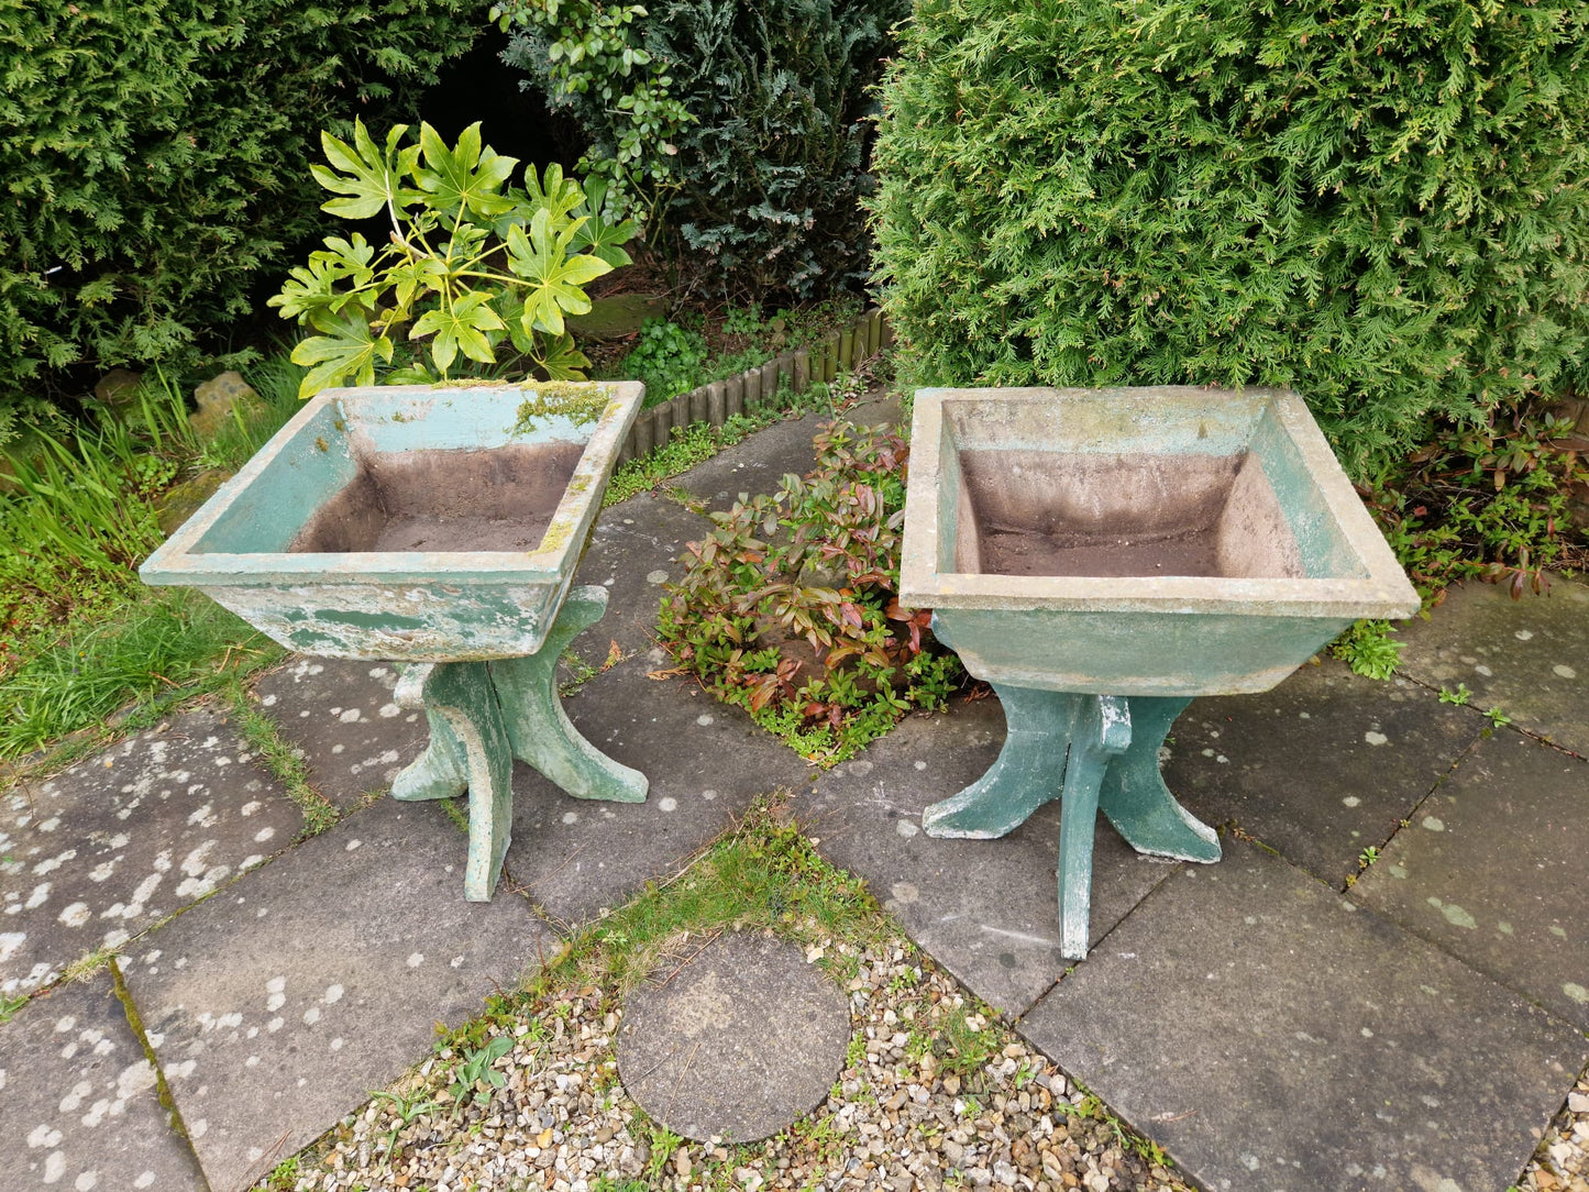
[[[1235,823],[1341,887],[1487,726],[1425,687],[1332,660],[1273,691],[1193,699],[1163,774],[1198,819]]]

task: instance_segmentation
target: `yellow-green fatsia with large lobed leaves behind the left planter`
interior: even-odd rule
[[[323,210],[346,219],[385,215],[385,245],[362,232],[326,237],[269,305],[313,329],[292,350],[308,369],[300,397],[342,383],[448,380],[474,366],[516,362],[550,380],[580,380],[590,366],[566,315],[591,308],[585,286],[629,264],[634,224],[602,218],[605,183],[582,188],[548,165],[510,186],[518,159],[480,143],[480,126],[458,145],[429,124],[404,145],[399,124],[378,145],[356,122],[353,145],[321,134],[326,165],[315,180],[335,199]],[[499,361],[512,345],[508,359]],[[470,364],[472,362],[472,364]]]

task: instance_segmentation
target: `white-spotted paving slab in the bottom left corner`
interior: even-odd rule
[[[0,1025],[0,1187],[203,1192],[108,969]]]

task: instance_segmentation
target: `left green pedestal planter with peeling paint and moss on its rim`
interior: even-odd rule
[[[331,389],[140,569],[191,585],[291,650],[410,663],[426,753],[400,799],[469,791],[464,892],[496,887],[513,758],[578,798],[645,777],[569,723],[556,660],[601,618],[574,571],[645,389],[531,383]]]

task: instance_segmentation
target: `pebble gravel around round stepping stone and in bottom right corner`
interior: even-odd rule
[[[829,942],[807,955],[844,974],[855,1036],[828,1100],[764,1143],[688,1143],[648,1120],[618,1082],[618,1000],[580,989],[499,1016],[439,1052],[259,1187],[1190,1189],[904,941],[866,950]],[[512,1041],[491,1063],[501,1086],[488,1079],[454,1097],[461,1065],[493,1038]],[[1589,1192],[1589,1074],[1517,1187]]]

